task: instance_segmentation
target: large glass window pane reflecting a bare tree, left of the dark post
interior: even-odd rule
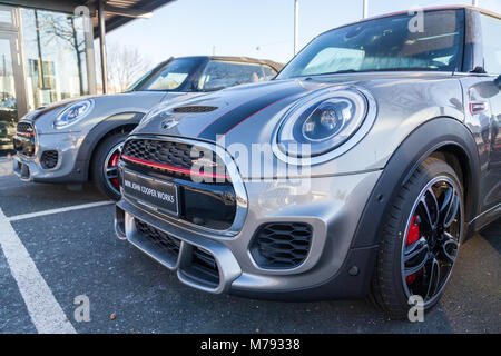
[[[21,9],[29,109],[88,93],[80,17]]]

